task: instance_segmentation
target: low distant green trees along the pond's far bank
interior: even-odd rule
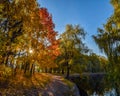
[[[72,66],[73,73],[98,73],[106,72],[108,61],[105,57],[91,53],[90,55],[82,55],[74,66]]]

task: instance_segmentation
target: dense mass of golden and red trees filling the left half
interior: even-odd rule
[[[59,40],[47,9],[40,8],[36,0],[4,0],[0,12],[3,63],[22,67],[24,73],[33,73],[35,64],[55,65]]]

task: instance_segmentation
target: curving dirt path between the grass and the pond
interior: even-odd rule
[[[51,76],[52,82],[47,85],[43,96],[80,96],[76,85],[69,87],[61,76]]]

